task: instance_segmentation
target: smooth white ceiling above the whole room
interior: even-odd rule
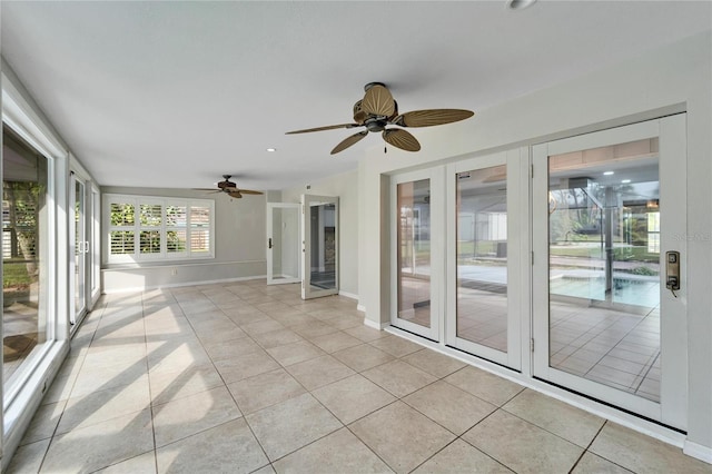
[[[709,30],[711,6],[3,0],[1,47],[100,185],[209,187],[231,174],[281,189],[383,147],[372,134],[329,156],[354,130],[285,135],[349,122],[367,82],[385,82],[400,111],[478,111]]]

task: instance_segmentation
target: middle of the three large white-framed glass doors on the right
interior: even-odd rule
[[[447,167],[447,316],[445,342],[521,369],[523,267],[521,213],[527,159],[520,150]],[[524,166],[522,164],[524,162]],[[524,185],[524,186],[522,186]]]

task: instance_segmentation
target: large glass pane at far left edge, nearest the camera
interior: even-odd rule
[[[49,160],[2,127],[2,381],[7,403],[22,385],[23,364],[48,332],[51,210]]]

